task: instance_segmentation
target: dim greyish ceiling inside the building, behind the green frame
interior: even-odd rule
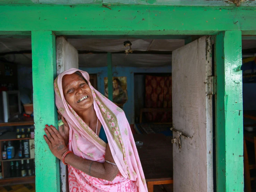
[[[134,53],[126,55],[129,47],[123,45],[129,40]],[[185,44],[183,39],[148,40],[148,39],[81,39],[68,38],[79,53],[80,67],[107,66],[106,52],[112,52],[114,66],[155,67],[171,64],[171,51]],[[256,40],[242,40],[242,49],[256,48]],[[18,52],[21,52],[18,53]],[[5,54],[8,53],[8,54]],[[145,54],[157,53],[157,54]],[[159,54],[161,53],[161,54]],[[32,64],[31,38],[0,38],[0,54],[10,62],[23,65]]]

